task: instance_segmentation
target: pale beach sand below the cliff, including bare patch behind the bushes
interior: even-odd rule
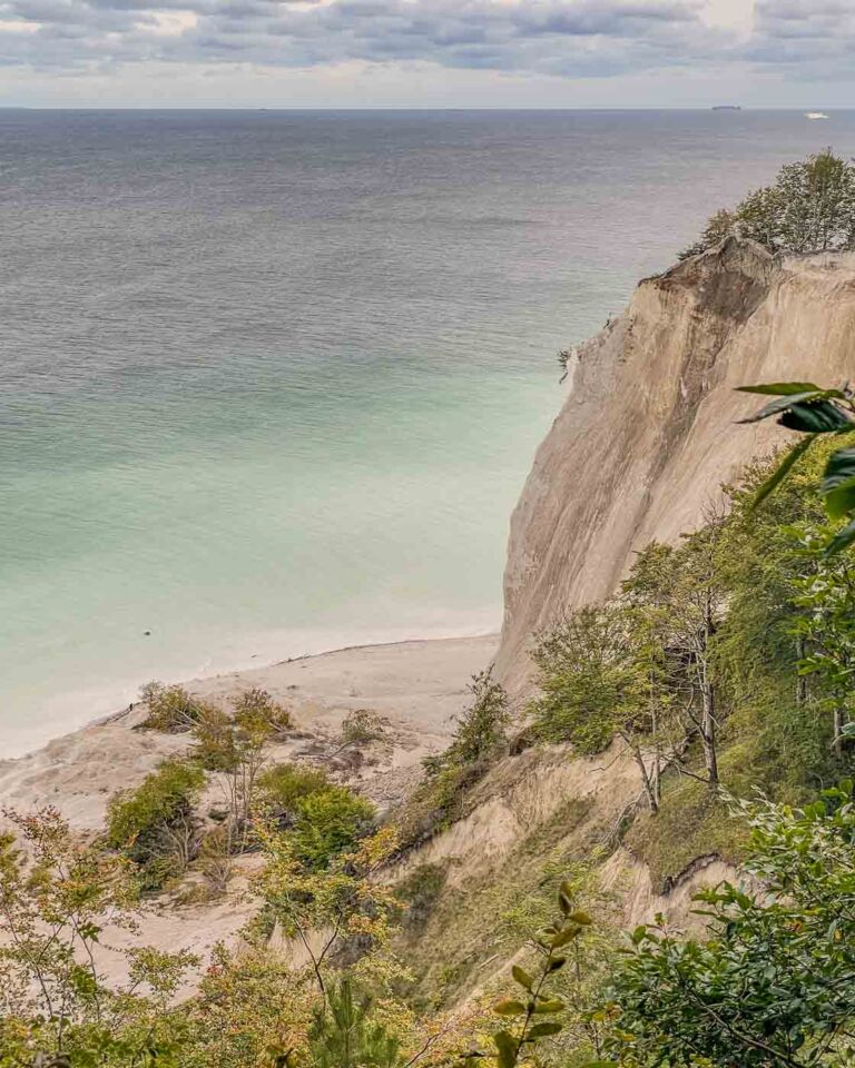
[[[286,705],[297,731],[271,748],[271,761],[296,758],[323,763],[325,754],[337,748],[342,721],[350,712],[370,709],[377,713],[384,721],[385,742],[368,746],[356,764],[337,772],[383,810],[416,780],[422,758],[445,746],[454,718],[466,704],[468,682],[492,661],[497,646],[495,636],[367,645],[186,685],[223,705],[240,691],[258,686]],[[51,804],[75,830],[99,831],[107,802],[116,791],[136,785],[165,756],[191,744],[187,735],[134,730],[144,715],[139,709],[126,710],[27,756],[0,762],[0,807],[26,813]],[[328,760],[326,767],[336,771]],[[204,813],[224,802],[224,783],[214,775],[199,810]],[[180,996],[190,993],[214,946],[235,946],[240,929],[257,911],[252,876],[258,864],[258,854],[237,858],[225,894],[213,900],[183,903],[180,897],[165,894],[148,902],[136,936],[108,927],[97,951],[105,979],[118,983],[127,978],[126,951],[131,946],[184,949],[199,958],[179,991]]]

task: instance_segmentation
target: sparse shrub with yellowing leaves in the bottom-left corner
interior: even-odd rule
[[[168,1064],[184,1040],[173,1000],[195,958],[135,947],[127,981],[108,987],[101,936],[135,922],[127,863],[76,842],[56,809],[3,814],[17,837],[0,835],[0,1066]]]

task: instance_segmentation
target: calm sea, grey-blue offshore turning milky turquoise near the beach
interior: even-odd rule
[[[0,755],[497,627],[558,349],[828,144],[855,113],[0,111]]]

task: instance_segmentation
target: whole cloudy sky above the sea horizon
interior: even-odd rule
[[[0,106],[855,106],[855,0],[0,0]]]

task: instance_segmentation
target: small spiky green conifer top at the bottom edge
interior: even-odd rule
[[[330,987],[308,1032],[312,1068],[401,1068],[401,1044],[373,1010],[374,998],[351,978]]]

